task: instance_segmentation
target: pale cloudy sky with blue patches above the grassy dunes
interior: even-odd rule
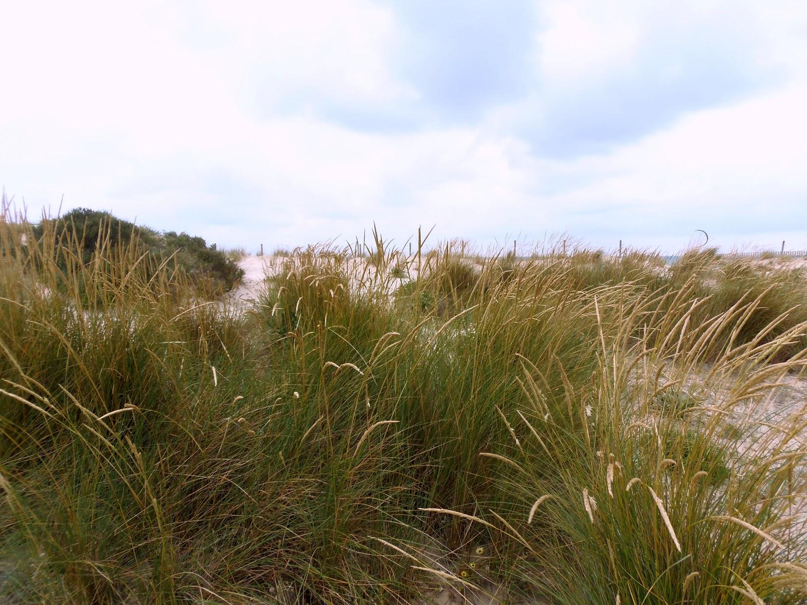
[[[252,252],[807,249],[803,0],[6,2],[0,186]]]

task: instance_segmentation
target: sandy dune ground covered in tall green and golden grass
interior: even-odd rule
[[[0,600],[807,599],[803,277],[377,238],[244,308],[23,233],[6,208]]]

